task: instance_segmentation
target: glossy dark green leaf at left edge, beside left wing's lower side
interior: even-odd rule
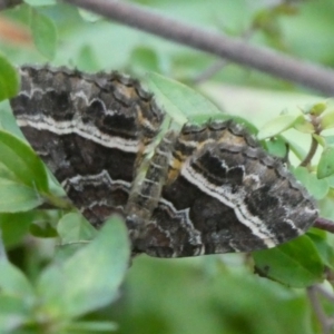
[[[45,166],[26,143],[0,130],[0,163],[12,171],[17,179],[39,191],[48,190]]]

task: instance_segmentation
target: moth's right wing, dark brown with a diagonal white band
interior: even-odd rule
[[[317,217],[314,200],[283,163],[233,121],[185,126],[168,178],[137,243],[153,256],[269,248],[303,234]]]

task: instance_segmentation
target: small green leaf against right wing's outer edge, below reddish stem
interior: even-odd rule
[[[293,174],[315,199],[322,199],[327,195],[330,186],[326,179],[318,179],[314,174],[308,173],[305,167],[295,168]]]

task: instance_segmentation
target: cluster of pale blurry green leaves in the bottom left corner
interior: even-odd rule
[[[111,322],[77,318],[118,296],[129,255],[126,227],[114,217],[89,245],[42,269],[37,282],[0,258],[1,333],[114,331]]]

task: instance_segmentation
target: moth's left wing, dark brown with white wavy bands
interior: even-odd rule
[[[22,67],[11,106],[26,138],[95,226],[122,213],[136,165],[159,131],[151,95],[117,72]]]

